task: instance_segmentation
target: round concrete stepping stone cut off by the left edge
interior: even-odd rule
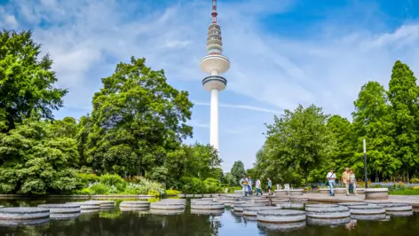
[[[48,208],[0,208],[0,225],[3,226],[36,225],[49,221]]]

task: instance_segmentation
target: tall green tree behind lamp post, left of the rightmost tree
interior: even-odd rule
[[[368,143],[368,173],[376,180],[388,177],[397,171],[400,161],[393,156],[394,141],[391,137],[391,121],[387,93],[377,82],[364,84],[353,103],[353,147],[352,168],[363,175],[363,142]]]

